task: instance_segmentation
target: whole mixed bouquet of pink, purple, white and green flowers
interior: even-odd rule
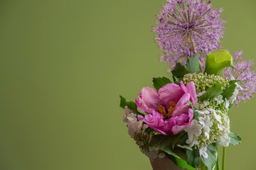
[[[241,51],[220,48],[222,11],[210,1],[167,1],[153,31],[172,76],[153,78],[135,102],[120,96],[128,133],[153,169],[220,170],[223,147],[224,170],[226,147],[241,142],[228,110],[252,97],[256,76]]]

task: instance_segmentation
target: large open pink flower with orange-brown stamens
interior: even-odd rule
[[[163,135],[177,135],[187,128],[193,120],[188,101],[197,103],[196,89],[193,81],[186,86],[182,81],[180,84],[166,84],[158,92],[144,87],[135,102],[148,114],[138,115],[138,119]]]

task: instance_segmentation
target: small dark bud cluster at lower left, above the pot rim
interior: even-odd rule
[[[149,141],[154,136],[154,132],[138,131],[134,133],[134,140],[142,152],[149,151]]]

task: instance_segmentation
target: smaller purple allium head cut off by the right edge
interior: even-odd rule
[[[241,62],[241,60],[243,60]],[[245,61],[245,58],[242,57],[242,51],[235,52],[233,55],[233,64],[236,69],[230,67],[225,68],[224,77],[230,79],[234,77],[236,80],[240,80],[238,84],[242,87],[239,89],[239,94],[235,101],[235,104],[238,106],[240,101],[246,101],[252,97],[252,94],[255,94],[256,88],[256,75],[255,69],[253,68],[254,62],[250,59],[248,62]]]

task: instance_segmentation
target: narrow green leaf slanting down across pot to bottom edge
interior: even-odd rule
[[[182,169],[196,170],[192,166],[190,166],[185,160],[178,157],[178,155],[176,155],[171,150],[170,147],[164,147],[163,151],[166,153],[166,156],[169,157],[169,159],[171,159],[174,162],[174,164],[176,164],[178,167],[180,167]]]

